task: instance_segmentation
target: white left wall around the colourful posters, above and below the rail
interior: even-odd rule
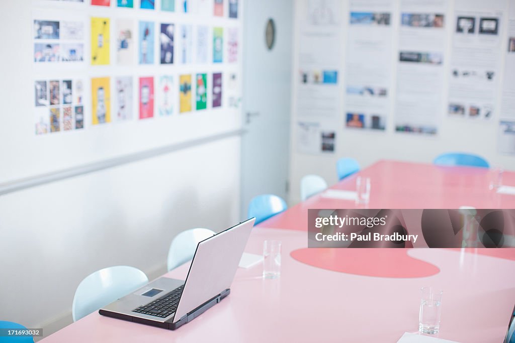
[[[118,13],[113,6],[110,9],[92,8],[89,0],[84,3],[84,8],[97,15]],[[243,8],[243,2],[240,3]],[[134,4],[139,6],[139,1]],[[43,6],[76,8],[76,4],[57,1],[0,2],[0,23],[4,33],[0,41],[2,46],[9,47],[3,50],[8,53],[0,53],[0,183],[166,146],[196,136],[209,136],[210,132],[241,128],[239,111],[230,112],[222,107],[202,113],[194,111],[181,116],[175,113],[170,118],[87,126],[81,132],[36,137],[32,115],[33,79],[40,77],[41,69],[36,70],[32,62],[31,19],[32,15],[37,15],[32,11],[32,5],[39,9]],[[210,22],[192,17],[193,24],[212,27],[216,23],[229,23],[227,1],[224,7],[223,19]],[[52,9],[48,11],[52,12]],[[123,13],[136,13],[134,19],[137,21],[142,19],[140,15],[152,16],[153,11],[134,9]],[[162,22],[164,18],[173,23],[188,22],[188,15],[191,15],[165,14],[157,10],[155,13],[156,19],[151,19],[155,22]],[[88,13],[77,15],[87,18],[88,23]],[[239,22],[230,23],[237,26]],[[88,45],[88,25],[85,34]],[[111,44],[115,45],[113,34]],[[112,61],[113,51],[114,47]],[[84,68],[88,68],[87,61]],[[84,70],[78,72],[87,77],[87,84],[89,77],[104,73],[111,77],[123,73],[155,77],[170,73],[177,77],[178,85],[179,73],[225,73],[229,69],[238,71],[240,66],[239,63],[230,67],[210,64],[205,68],[155,64],[128,69],[101,66],[94,69],[95,75],[87,75]],[[61,79],[70,73],[67,69],[54,69],[58,74],[55,77]],[[45,75],[52,77],[48,70]],[[89,117],[90,101],[88,97],[86,99],[85,109],[88,110],[85,116]],[[226,100],[224,97],[225,103]],[[211,101],[211,95],[208,101]],[[177,103],[176,110],[178,107]],[[134,109],[134,115],[137,116],[137,109]],[[41,149],[43,146],[47,148]],[[29,328],[43,327],[48,335],[71,322],[75,288],[95,270],[111,265],[132,265],[141,268],[152,279],[166,271],[169,244],[180,231],[193,227],[219,231],[234,225],[240,219],[240,149],[241,138],[233,136],[0,195],[0,320],[19,322]]]

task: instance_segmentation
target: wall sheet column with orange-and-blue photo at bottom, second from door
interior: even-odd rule
[[[345,125],[385,130],[390,113],[393,0],[350,2]]]

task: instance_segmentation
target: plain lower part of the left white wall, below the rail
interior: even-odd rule
[[[95,270],[156,277],[177,233],[236,223],[239,145],[226,138],[0,196],[0,318],[53,331]]]

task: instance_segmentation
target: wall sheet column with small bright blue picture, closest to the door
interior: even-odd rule
[[[298,69],[294,108],[300,120],[297,130],[299,151],[334,152],[341,108],[341,2],[304,0],[299,2],[297,10],[298,50],[295,58]],[[316,137],[308,139],[315,130],[313,137]],[[322,131],[331,136],[324,140],[326,144],[323,147]]]

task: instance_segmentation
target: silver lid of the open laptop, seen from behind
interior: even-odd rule
[[[174,322],[231,287],[254,222],[249,219],[198,243]]]

